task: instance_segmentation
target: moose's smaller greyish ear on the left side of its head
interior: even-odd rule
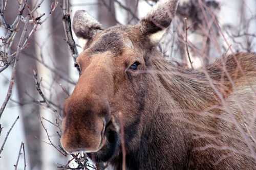
[[[85,40],[84,45],[88,40],[93,39],[98,32],[102,31],[101,24],[84,10],[75,12],[72,28],[79,39]]]

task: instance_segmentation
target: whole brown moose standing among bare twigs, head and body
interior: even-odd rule
[[[68,153],[114,169],[256,169],[256,55],[197,69],[166,61],[157,45],[177,5],[159,1],[137,25],[106,30],[76,11],[72,28],[84,44],[63,105]]]

